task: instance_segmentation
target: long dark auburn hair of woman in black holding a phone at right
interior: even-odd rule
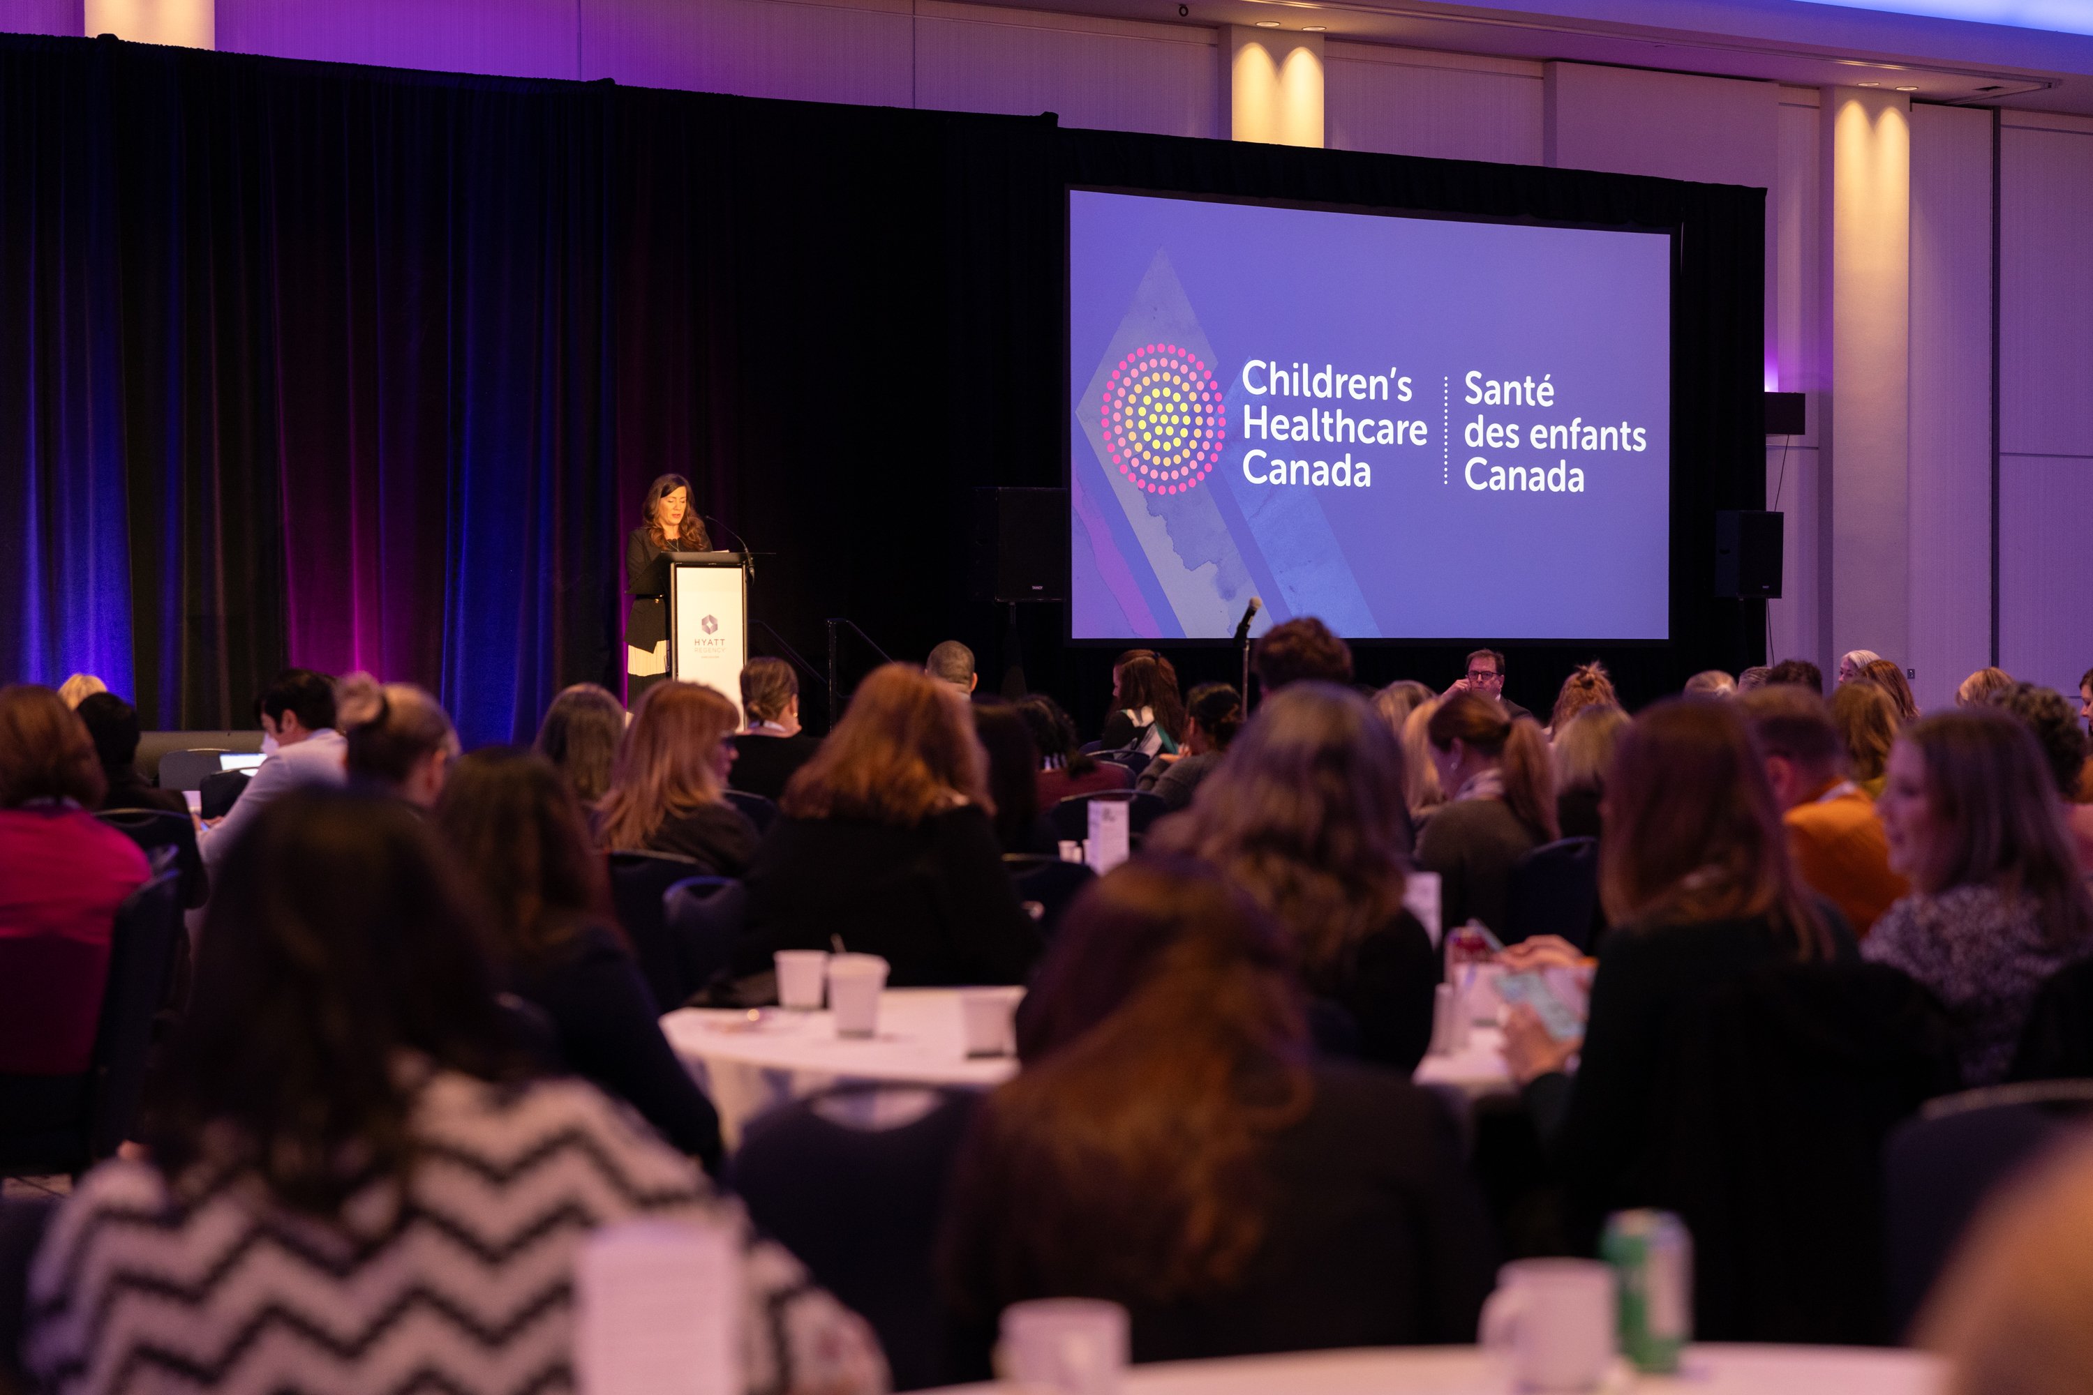
[[[1620,738],[1605,776],[1599,895],[1614,924],[1766,916],[1798,958],[1831,958],[1735,703],[1670,699]]]

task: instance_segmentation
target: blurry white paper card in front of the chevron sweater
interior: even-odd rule
[[[573,1263],[582,1395],[741,1395],[741,1242],[728,1226],[605,1226]]]

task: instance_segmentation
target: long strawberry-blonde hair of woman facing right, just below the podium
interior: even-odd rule
[[[724,786],[714,759],[733,734],[735,705],[705,684],[649,688],[617,742],[611,788],[597,803],[603,811],[597,841],[647,847],[672,814],[718,803]]]

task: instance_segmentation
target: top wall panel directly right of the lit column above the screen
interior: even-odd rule
[[[1325,46],[1329,146],[1432,159],[1540,163],[1540,65]]]

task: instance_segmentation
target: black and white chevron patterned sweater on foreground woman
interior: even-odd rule
[[[366,1188],[345,1226],[285,1211],[251,1177],[190,1196],[151,1165],[103,1163],[31,1265],[29,1370],[59,1395],[567,1391],[582,1238],[730,1207],[751,1395],[885,1389],[864,1322],[592,1085],[440,1073],[414,1134],[404,1194]]]

